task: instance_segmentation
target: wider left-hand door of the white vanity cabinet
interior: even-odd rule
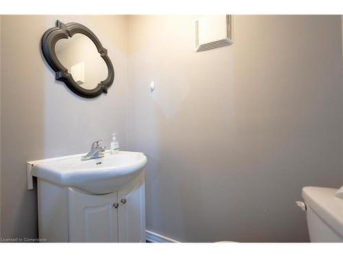
[[[118,242],[117,192],[86,195],[68,188],[69,242]]]

